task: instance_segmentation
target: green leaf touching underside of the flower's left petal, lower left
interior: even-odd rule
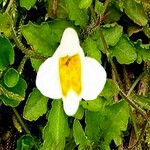
[[[48,98],[44,97],[39,90],[33,89],[29,95],[23,111],[23,117],[29,121],[37,120],[47,111]]]

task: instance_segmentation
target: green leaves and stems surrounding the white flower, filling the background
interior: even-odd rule
[[[150,149],[149,0],[0,0],[0,149]],[[107,71],[68,117],[35,86],[66,27]]]

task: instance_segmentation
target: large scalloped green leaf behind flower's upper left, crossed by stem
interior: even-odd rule
[[[63,31],[71,26],[67,21],[57,20],[36,25],[31,22],[22,27],[22,34],[34,50],[44,56],[52,56],[55,52]],[[31,59],[32,66],[38,70],[42,61]]]

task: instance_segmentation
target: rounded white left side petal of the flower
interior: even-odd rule
[[[59,99],[62,97],[58,61],[48,58],[39,68],[36,77],[36,86],[41,93],[49,98]]]

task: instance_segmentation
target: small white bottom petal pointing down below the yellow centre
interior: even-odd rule
[[[81,97],[77,96],[73,91],[70,91],[66,97],[63,97],[64,111],[68,116],[73,116],[79,107]]]

